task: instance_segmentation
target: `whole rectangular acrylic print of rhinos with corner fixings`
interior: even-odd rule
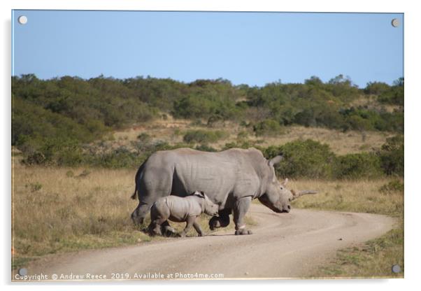
[[[404,276],[403,14],[12,23],[13,281]]]

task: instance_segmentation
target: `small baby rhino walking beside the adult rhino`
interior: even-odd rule
[[[217,215],[218,206],[214,204],[204,192],[196,191],[186,197],[166,196],[158,199],[150,208],[150,225],[149,233],[154,235],[162,235],[161,225],[166,220],[175,222],[187,222],[185,229],[180,236],[185,236],[189,229],[193,226],[199,236],[203,236],[203,232],[196,218],[201,213],[207,215]]]

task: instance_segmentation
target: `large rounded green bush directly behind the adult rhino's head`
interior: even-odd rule
[[[268,159],[283,154],[284,159],[276,166],[278,177],[283,178],[331,178],[335,155],[327,144],[307,139],[297,140],[280,147],[264,150]]]

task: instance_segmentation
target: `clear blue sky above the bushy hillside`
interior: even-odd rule
[[[27,24],[17,22],[20,15]],[[359,87],[404,76],[400,13],[14,10],[12,22],[14,76],[226,78],[262,86],[343,74]]]

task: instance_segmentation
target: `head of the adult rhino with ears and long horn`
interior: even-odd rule
[[[270,159],[267,166],[269,167],[268,180],[266,180],[266,191],[258,199],[259,201],[271,208],[276,213],[288,213],[291,211],[291,201],[306,194],[316,194],[317,192],[311,190],[294,191],[288,190],[286,185],[288,179],[280,183],[276,178],[274,166],[278,164],[283,157],[278,155]]]

